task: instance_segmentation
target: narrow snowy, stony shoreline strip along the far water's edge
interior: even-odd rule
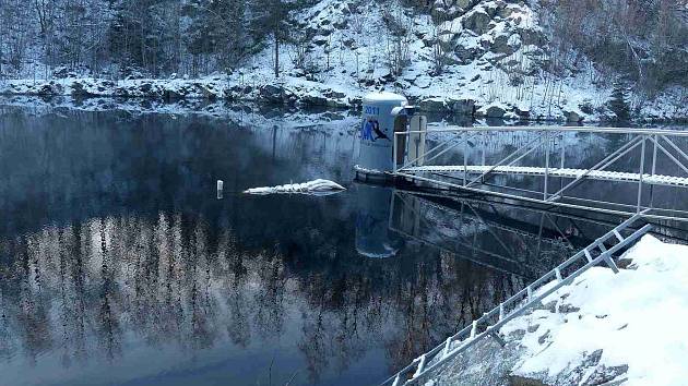
[[[0,96],[36,98],[72,98],[76,104],[88,99],[111,99],[117,102],[147,100],[174,104],[210,105],[217,102],[256,105],[259,108],[283,108],[308,111],[311,109],[359,111],[363,96],[369,92],[385,89],[385,85],[369,88],[341,89],[323,83],[304,81],[304,85],[285,85],[277,80],[271,83],[238,84],[223,76],[200,79],[139,79],[110,81],[95,77],[70,77],[54,80],[4,80],[0,81]],[[394,91],[405,94],[403,91]],[[476,100],[453,97],[427,97],[405,94],[418,110],[428,116],[454,118],[456,120],[495,120],[500,122],[558,122],[566,124],[619,124],[622,121],[596,116],[584,116],[574,111],[546,116],[534,111],[520,111],[508,104],[479,106]],[[631,118],[631,124],[684,124],[688,114]]]

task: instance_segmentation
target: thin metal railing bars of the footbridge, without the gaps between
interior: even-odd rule
[[[653,208],[653,210],[657,210],[661,212],[665,208],[661,207],[662,205],[660,204],[657,207],[655,207],[655,201],[654,201],[654,185],[664,185],[664,186],[669,186],[669,188],[680,188],[680,189],[685,189],[688,188],[688,183],[686,183],[686,181],[688,180],[688,178],[685,177],[677,177],[677,176],[662,176],[662,179],[657,180],[655,178],[648,178],[648,177],[654,177],[656,174],[656,162],[657,162],[657,155],[662,154],[662,155],[666,155],[674,164],[678,165],[678,167],[684,171],[688,173],[688,166],[686,165],[685,161],[688,160],[688,154],[681,149],[681,146],[679,147],[676,143],[674,143],[676,141],[676,138],[683,138],[683,137],[688,137],[688,131],[678,131],[678,130],[653,130],[653,129],[633,129],[633,128],[572,128],[572,126],[553,126],[553,125],[548,125],[548,126],[471,126],[471,128],[463,128],[463,126],[453,126],[453,128],[441,128],[441,129],[429,129],[427,131],[425,131],[426,134],[431,134],[431,133],[442,133],[442,132],[447,132],[447,133],[461,133],[463,134],[462,136],[468,136],[471,133],[489,133],[489,132],[519,132],[519,131],[523,131],[523,132],[530,132],[530,133],[537,133],[537,134],[544,134],[547,138],[549,138],[550,136],[550,132],[557,132],[559,133],[558,135],[564,135],[561,132],[589,132],[589,133],[617,133],[617,134],[626,134],[629,138],[628,141],[621,145],[618,149],[614,150],[613,153],[610,153],[609,155],[607,155],[606,157],[604,157],[603,160],[601,160],[600,162],[595,164],[595,166],[591,167],[591,168],[585,168],[585,169],[581,169],[584,170],[583,173],[581,174],[577,174],[577,176],[559,176],[559,178],[572,178],[573,181],[570,181],[568,183],[566,183],[566,185],[562,183],[561,188],[556,191],[555,193],[550,193],[549,192],[549,184],[548,184],[548,180],[549,180],[549,172],[550,172],[550,166],[549,166],[549,154],[550,154],[550,144],[549,144],[549,140],[546,141],[545,144],[545,167],[543,168],[544,172],[542,174],[544,174],[544,184],[543,184],[543,192],[541,193],[542,196],[541,197],[533,197],[532,194],[534,193],[527,193],[527,194],[523,194],[524,192],[521,192],[521,194],[508,194],[508,193],[503,193],[503,192],[499,192],[496,190],[491,190],[491,189],[485,189],[484,186],[478,186],[478,189],[476,189],[476,184],[481,184],[481,185],[485,185],[485,179],[488,178],[489,176],[494,174],[495,171],[502,165],[502,164],[507,164],[509,166],[514,165],[517,161],[520,161],[522,158],[524,158],[526,155],[531,154],[532,152],[535,152],[537,148],[539,148],[539,144],[535,144],[533,145],[533,141],[530,141],[527,144],[519,147],[517,150],[510,153],[508,156],[502,157],[499,161],[491,162],[493,166],[489,166],[489,168],[487,170],[481,170],[478,172],[478,177],[476,178],[472,178],[468,181],[467,174],[468,174],[468,168],[467,168],[467,153],[464,149],[464,155],[463,155],[463,170],[460,167],[460,165],[448,165],[448,167],[455,167],[455,170],[452,170],[450,172],[462,172],[463,171],[463,184],[458,184],[458,183],[448,183],[446,181],[442,181],[439,178],[427,178],[430,176],[419,176],[418,173],[424,173],[424,169],[429,168],[429,166],[423,166],[423,167],[395,167],[394,170],[392,171],[392,174],[394,174],[395,177],[401,177],[401,178],[407,178],[411,180],[415,180],[417,182],[429,182],[436,185],[440,185],[440,186],[446,186],[446,188],[450,188],[450,189],[459,189],[459,190],[463,190],[463,191],[468,191],[468,192],[479,192],[479,193],[484,193],[484,194],[490,194],[490,195],[496,195],[496,196],[500,196],[503,198],[514,198],[514,200],[523,200],[523,201],[529,201],[529,202],[537,202],[541,203],[543,205],[554,205],[554,206],[559,206],[559,207],[568,207],[568,208],[574,208],[574,209],[584,209],[584,210],[593,210],[593,212],[601,212],[601,213],[609,213],[609,214],[619,214],[619,215],[632,215],[634,213],[639,213],[642,209],[644,209],[644,207],[651,207]],[[406,131],[406,132],[395,132],[394,135],[394,140],[395,142],[398,141],[399,136],[396,135],[408,135],[408,133],[413,133],[413,131]],[[538,135],[539,137],[541,135]],[[663,140],[663,144],[661,145],[660,142]],[[647,148],[647,143],[650,143],[653,146],[652,148],[652,158],[651,158],[651,174],[645,174],[644,169],[645,169],[645,148]],[[438,147],[441,145],[438,145]],[[483,142],[483,146],[485,146],[485,142]],[[450,146],[453,147],[453,146]],[[524,149],[529,148],[527,150],[524,152]],[[590,180],[591,176],[593,173],[595,173],[596,171],[601,171],[601,170],[606,170],[610,165],[613,165],[614,162],[616,162],[618,159],[620,159],[621,157],[628,155],[630,152],[636,150],[638,147],[641,147],[641,155],[640,155],[640,165],[639,165],[639,171],[636,174],[637,178],[632,178],[632,179],[628,179],[628,178],[621,178],[621,176],[612,176],[614,178],[592,178],[592,179],[597,179],[597,180],[608,180],[608,181],[625,181],[625,182],[634,182],[638,185],[637,189],[637,200],[636,200],[636,210],[634,213],[619,213],[617,210],[613,210],[609,208],[609,206],[612,205],[616,205],[616,202],[607,202],[604,200],[589,200],[591,203],[595,203],[596,205],[591,205],[591,204],[586,204],[586,205],[574,205],[572,203],[565,203],[562,202],[565,198],[568,198],[568,196],[565,196],[566,192],[570,192],[571,189],[573,189],[574,186],[577,186],[578,184],[580,184],[583,181]],[[560,168],[564,170],[564,164],[565,164],[565,158],[564,158],[564,145],[561,147],[562,149],[562,155],[561,155],[561,160],[560,160]],[[394,153],[396,156],[396,147],[394,147]],[[523,153],[523,154],[522,154]],[[514,157],[517,157],[515,159],[513,159]],[[483,164],[485,166],[485,147],[483,147]],[[440,167],[440,166],[438,166]],[[430,173],[435,173],[435,171],[429,171]],[[438,174],[441,176],[441,174]],[[541,176],[541,174],[537,174]],[[679,180],[680,179],[680,180]],[[561,180],[564,182],[564,180]],[[669,183],[671,182],[671,183]],[[643,205],[643,189],[650,188],[650,204],[649,205]],[[503,183],[503,186],[497,186],[497,188],[503,188],[503,189],[511,189],[513,186],[509,186],[508,184]],[[574,197],[576,194],[573,195],[573,197],[571,198],[576,198]],[[648,198],[645,197],[645,201],[648,201]],[[654,216],[654,217],[652,217]],[[657,216],[655,214],[648,214],[645,216],[647,218],[663,218],[663,219],[669,219],[669,220],[677,220],[677,221],[688,221],[688,217],[677,217],[677,216]]]

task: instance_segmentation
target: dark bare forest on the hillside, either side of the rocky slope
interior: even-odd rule
[[[620,73],[649,94],[672,84],[688,86],[686,0],[498,1],[536,10],[549,53],[542,67],[554,76],[576,68],[584,58],[594,63],[597,73]],[[387,11],[380,24],[403,45],[414,36],[400,21],[431,15],[439,26],[484,1],[341,2],[354,10],[352,23],[356,13],[366,12],[367,4],[383,3]],[[297,20],[298,11],[319,3],[323,2],[0,0],[0,79],[59,77],[66,72],[107,79],[195,77],[230,73],[259,52],[271,52],[278,75],[281,60],[303,60],[312,48],[309,41],[319,32],[305,28],[304,21]],[[442,41],[437,46],[439,51],[446,49]],[[337,49],[333,45],[330,51]],[[395,52],[404,60],[388,58],[390,67],[395,67],[393,74],[403,72],[404,62],[414,60],[413,52],[403,47],[391,51]],[[451,63],[442,52],[437,57],[438,67],[444,65],[441,61]],[[313,69],[305,70],[317,71]]]

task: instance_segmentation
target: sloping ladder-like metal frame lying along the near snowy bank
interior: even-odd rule
[[[618,273],[614,254],[621,252],[622,249],[629,246],[651,229],[651,225],[648,224],[627,237],[622,236],[624,231],[628,230],[627,228],[643,215],[644,213],[640,213],[624,221],[497,307],[473,321],[470,326],[447,338],[443,343],[416,358],[411,364],[384,381],[382,385],[412,385],[419,381],[423,375],[438,369],[449,359],[466,351],[486,337],[493,337],[503,346],[505,341],[499,336],[499,329],[505,324],[522,315],[525,311],[542,304],[542,300],[546,297],[571,284],[578,276],[602,262],[606,263],[614,273]],[[612,243],[614,244],[612,245]],[[597,255],[593,256],[594,254]]]

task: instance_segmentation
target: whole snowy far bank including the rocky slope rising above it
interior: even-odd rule
[[[425,111],[474,118],[594,122],[617,117],[613,84],[622,76],[597,71],[581,52],[570,68],[553,73],[548,32],[534,3],[466,3],[453,11],[437,8],[446,20],[439,25],[399,1],[323,0],[295,10],[288,19],[305,35],[282,46],[283,58],[290,60],[281,62],[278,77],[273,47],[265,47],[227,74],[10,80],[0,81],[0,94],[358,108],[367,93],[390,91]],[[394,48],[400,39],[403,45]],[[395,56],[403,57],[396,67]],[[652,98],[633,93],[625,98],[638,119],[688,117],[688,93],[679,84]]]

